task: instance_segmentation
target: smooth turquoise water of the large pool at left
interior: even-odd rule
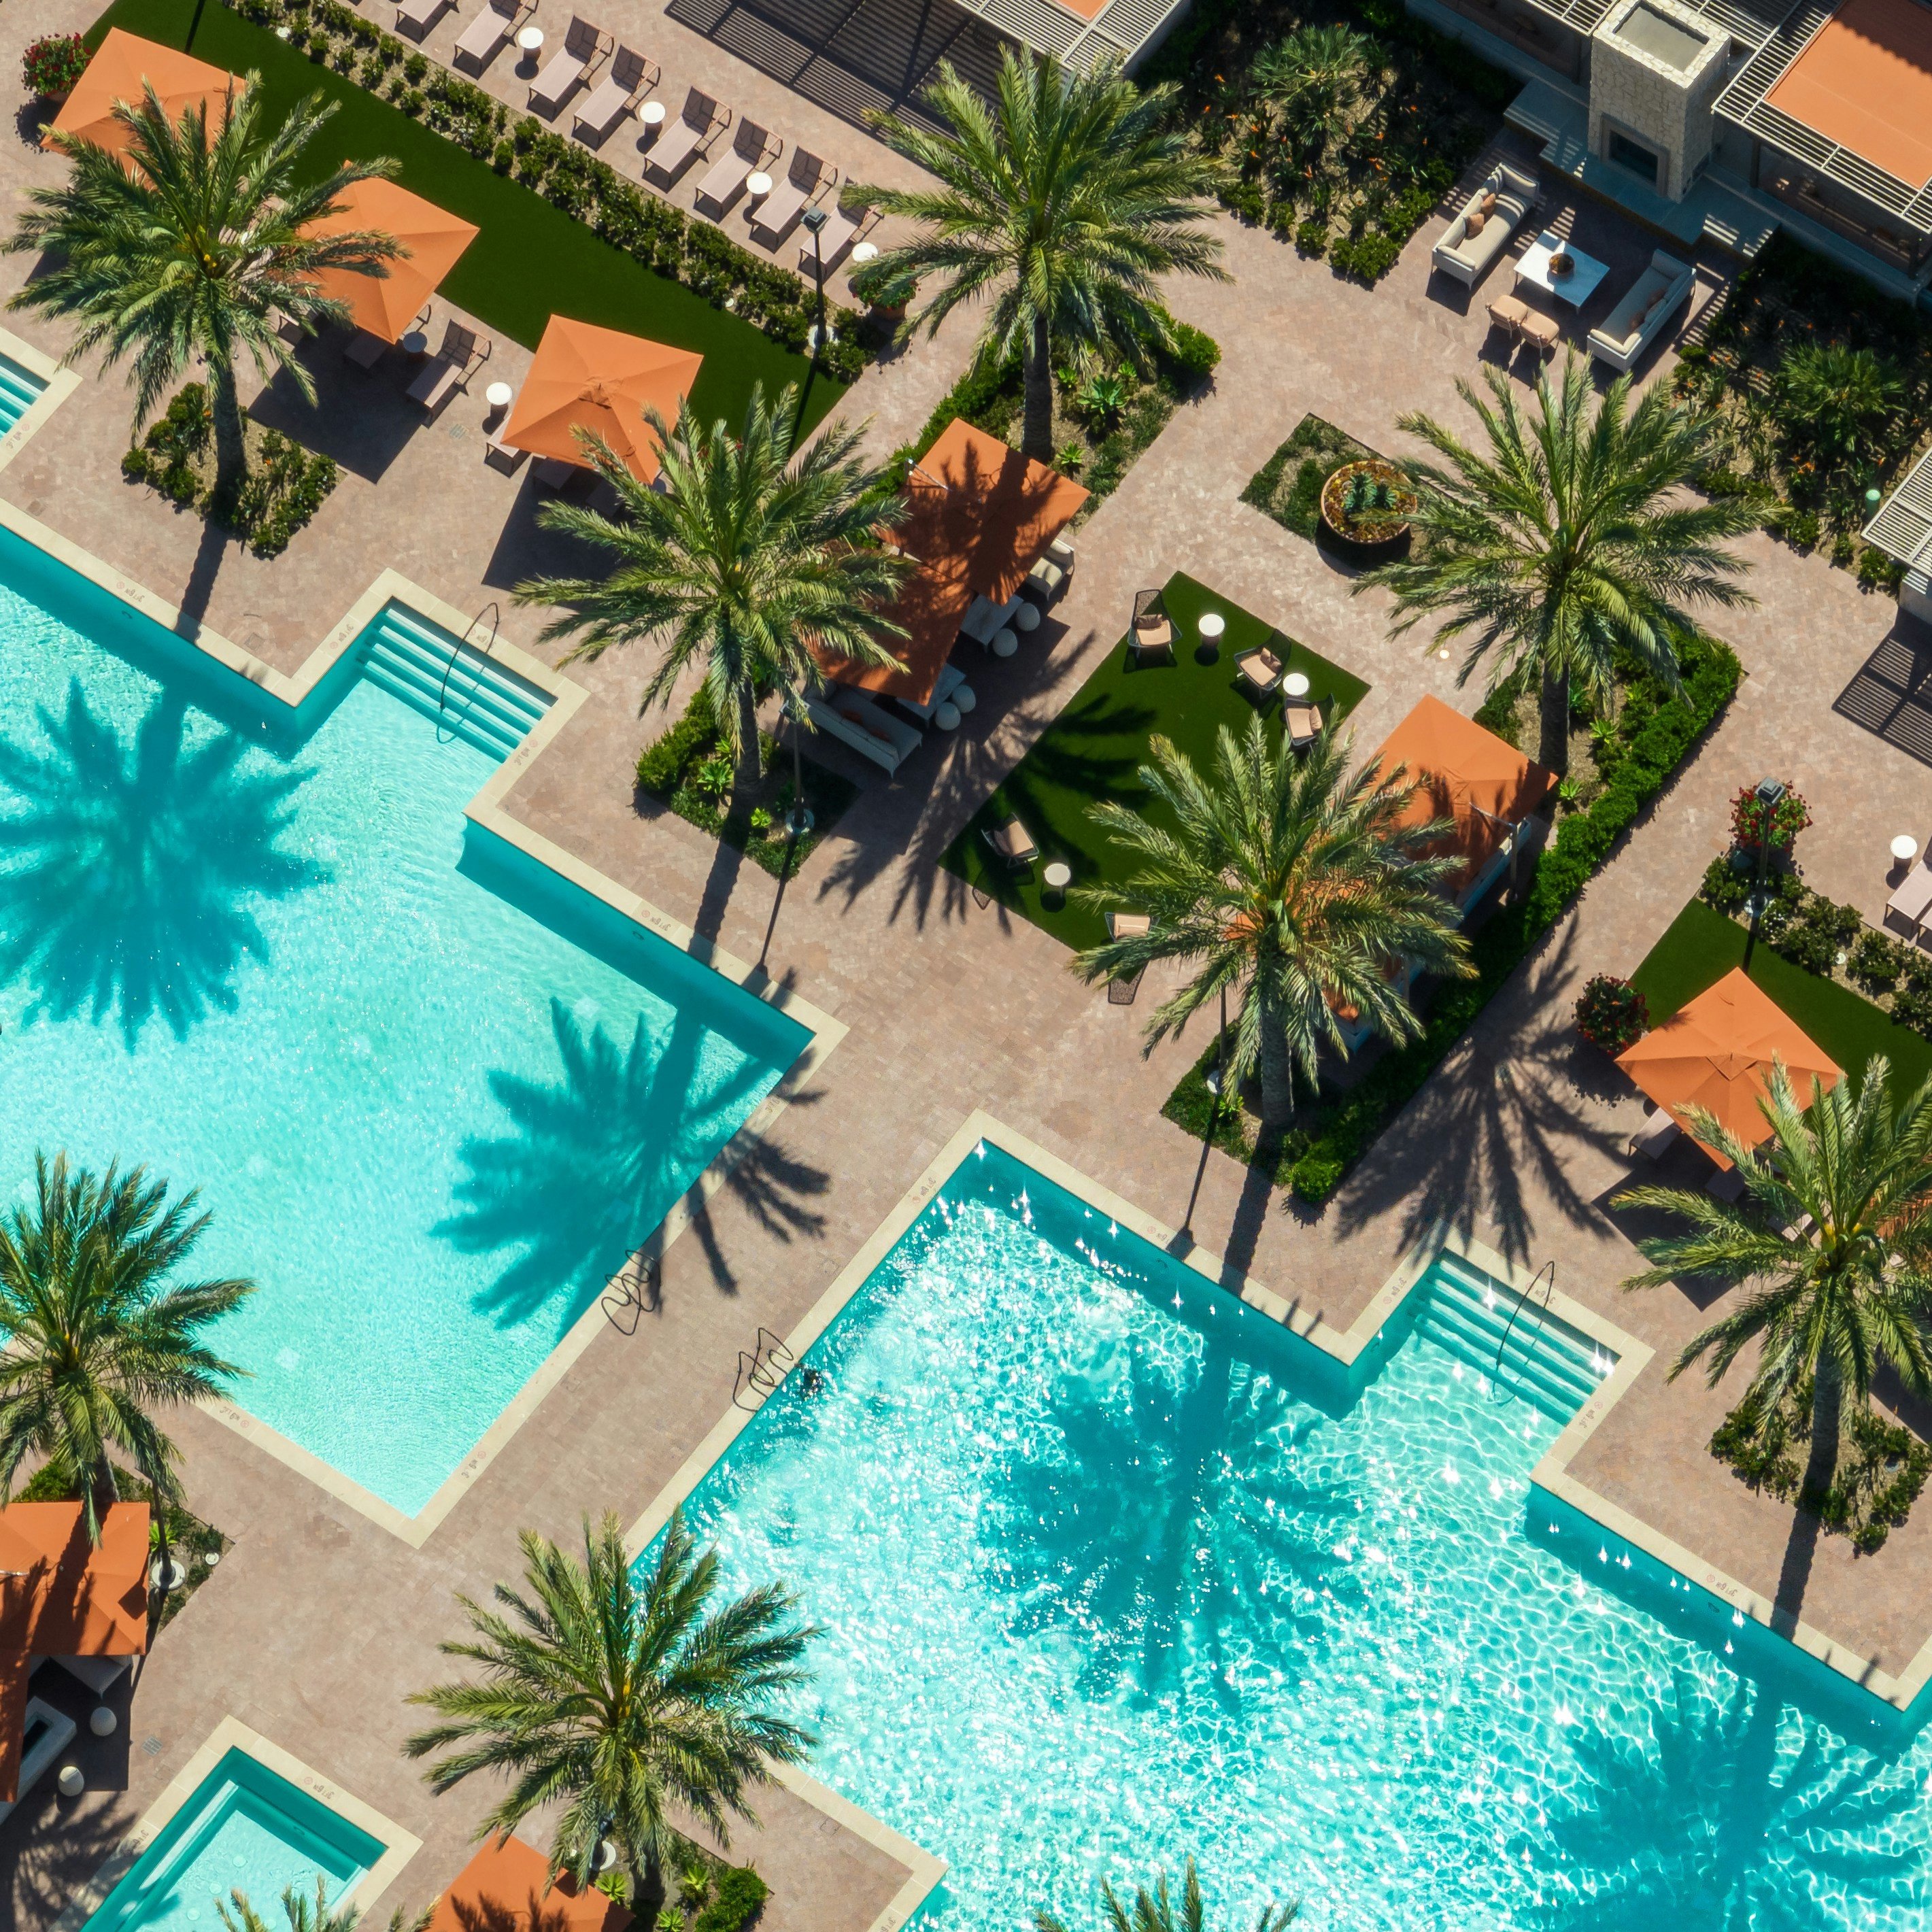
[[[0,1202],[199,1186],[238,1401],[408,1513],[808,1039],[466,833],[543,701],[415,676],[384,618],[290,719],[0,539]]]

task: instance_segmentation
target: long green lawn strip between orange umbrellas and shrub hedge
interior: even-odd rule
[[[535,348],[551,313],[558,311],[697,350],[705,365],[692,406],[726,421],[742,417],[753,383],[763,383],[767,394],[796,383],[804,392],[806,427],[844,394],[840,383],[815,375],[806,357],[779,348],[763,330],[632,261],[520,182],[497,174],[346,75],[311,62],[220,0],[116,0],[89,39],[97,41],[108,27],[182,48],[189,46],[193,29],[191,52],[234,73],[259,71],[278,116],[321,89],[338,106],[311,149],[315,172],[327,172],[344,156],[388,155],[402,164],[404,187],[475,222],[481,232],[450,270],[442,294],[526,348]],[[512,58],[512,50],[498,56]],[[560,131],[568,133],[568,126]]]

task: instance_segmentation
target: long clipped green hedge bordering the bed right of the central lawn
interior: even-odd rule
[[[1636,815],[1723,713],[1741,678],[1737,655],[1718,639],[1685,653],[1679,696],[1660,705],[1636,734],[1596,804],[1563,819],[1536,862],[1530,889],[1470,939],[1476,978],[1437,987],[1422,1036],[1387,1053],[1349,1094],[1321,1103],[1306,1142],[1291,1144],[1291,1157],[1277,1163],[1277,1182],[1291,1186],[1312,1208],[1341,1186],[1349,1169],[1470,1030],[1530,947],[1569,912]],[[1190,1134],[1206,1134],[1213,1117],[1215,1146],[1254,1161],[1256,1146],[1238,1111],[1215,1115],[1206,1076],[1217,1051],[1219,1039],[1186,1072],[1161,1113]]]

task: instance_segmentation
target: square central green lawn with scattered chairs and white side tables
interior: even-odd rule
[[[1289,670],[1308,676],[1310,696],[1333,697],[1341,713],[1352,711],[1368,686],[1347,670],[1316,657],[1306,645],[1271,630],[1258,616],[1213,595],[1188,576],[1173,576],[1165,585],[1167,612],[1175,620],[1173,663],[1134,665],[1122,636],[1107,653],[1072,703],[1045,728],[1039,742],[1012,769],[1007,781],[974,813],[972,823],[952,840],[943,864],[1003,906],[1053,933],[1063,945],[1080,949],[1107,937],[1095,912],[1043,898],[1041,873],[1053,860],[1065,860],[1076,885],[1119,879],[1126,871],[1124,854],[1109,846],[1088,817],[1101,798],[1136,802],[1146,798],[1136,773],[1148,761],[1148,740],[1161,732],[1173,738],[1194,763],[1213,765],[1215,732],[1223,724],[1246,728],[1254,705],[1235,682],[1235,655],[1256,645],[1271,645]],[[1196,620],[1208,609],[1227,618],[1215,663],[1196,659]],[[1020,649],[1030,649],[1026,641]],[[1281,701],[1267,703],[1265,717],[1275,736],[1281,732]],[[1039,858],[1012,873],[993,862],[983,831],[1016,811],[1039,846]]]

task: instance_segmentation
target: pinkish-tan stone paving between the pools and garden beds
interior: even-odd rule
[[[77,25],[81,10],[50,0],[31,27],[66,19]],[[676,29],[661,25],[651,29],[657,48],[674,46]],[[0,71],[17,73],[27,31],[23,15],[0,21]],[[715,48],[707,56],[724,60]],[[659,58],[668,83],[672,56]],[[703,71],[694,52],[690,73]],[[732,70],[724,91],[742,104],[769,85]],[[786,126],[810,126],[802,102],[786,112]],[[842,137],[850,141],[850,129]],[[10,149],[8,197],[50,166]],[[1648,242],[1594,205],[1553,201],[1546,218],[1619,272],[1648,255]],[[1374,292],[1267,234],[1229,220],[1219,228],[1236,280],[1175,292],[1179,313],[1223,344],[1215,386],[1177,413],[1084,527],[1078,570],[1049,624],[1010,663],[972,661],[980,707],[966,726],[929,740],[893,782],[854,769],[862,798],[782,902],[765,873],[634,798],[645,655],[614,653],[580,672],[593,701],[518,784],[510,810],[740,956],[763,956],[775,978],[850,1034],[670,1250],[661,1308],[634,1335],[612,1329],[585,1350],[423,1549],[408,1549],[214,1420],[180,1422],[189,1493],[236,1549],[156,1644],[124,1743],[89,1760],[89,1795],[62,1804],[43,1787],[0,1832],[0,1886],[15,1922],[46,1924],[228,1712],[421,1833],[423,1851],[384,1915],[390,1903],[427,1901],[462,1862],[489,1801],[481,1789],[431,1801],[398,1750],[412,1729],[402,1698],[440,1675],[435,1644],[458,1629],[452,1592],[485,1594],[514,1577],[522,1526],[564,1538],[583,1511],[636,1519],[724,1410],[753,1329],[792,1327],[974,1107],[1169,1225],[1190,1225],[1206,1250],[1337,1325],[1379,1289],[1406,1242],[1441,1221],[1530,1265],[1555,1260],[1567,1293],[1662,1356],[1573,1472],[1766,1596],[1776,1592],[1789,1513],[1752,1497],[1706,1455],[1721,1401],[1694,1381],[1663,1385],[1663,1360],[1702,1310],[1675,1291],[1617,1294],[1634,1250],[1604,1200],[1627,1173],[1619,1148],[1638,1105],[1577,1047],[1569,1003],[1588,972],[1629,970],[1642,956],[1721,844],[1729,794],[1768,769],[1797,781],[1818,811],[1803,848],[1810,879],[1878,910],[1889,837],[1922,835],[1932,823],[1932,771],[1835,717],[1832,699],[1897,622],[1889,601],[1859,593],[1818,560],[1758,539],[1743,545],[1760,607],[1725,624],[1750,672],[1739,701],[1578,912],[1321,1215],[1293,1211],[1217,1153],[1204,1161],[1157,1119],[1204,1041],[1142,1057],[1138,1024],[1151,985],[1138,1009],[1109,1007],[1072,980],[1053,941],[997,908],[976,908],[935,866],[1119,638],[1132,591],[1173,570],[1190,570],[1370,678],[1358,715],[1364,746],[1422,692],[1474,707],[1478,694],[1457,690],[1451,663],[1414,639],[1387,638],[1385,601],[1350,595],[1312,545],[1236,498],[1308,410],[1391,454],[1408,446],[1393,427],[1403,410],[1457,417],[1457,377],[1493,354],[1482,301],[1432,280],[1435,224]],[[25,267],[0,263],[8,288]],[[1716,276],[1721,269],[1700,299]],[[1497,270],[1486,294],[1501,286]],[[23,332],[58,348],[44,330]],[[964,350],[966,338],[952,336],[920,359],[873,371],[852,408],[916,423],[945,386],[949,357],[956,369]],[[392,379],[379,371],[383,381]],[[272,566],[218,551],[191,520],[120,483],[126,398],[112,379],[85,384],[58,427],[0,475],[0,491],[290,665],[386,564],[462,609],[500,597],[529,568],[527,504],[520,485],[479,462],[479,398],[460,404],[439,429],[400,439],[381,468],[365,460],[373,473],[352,475]],[[367,412],[344,404],[325,410],[321,435],[381,440]],[[896,440],[900,431],[881,421],[879,435]],[[458,446],[464,440],[469,448]],[[518,639],[539,622],[541,612],[504,612]],[[837,752],[823,755],[840,763]],[[1899,1669],[1932,1627],[1928,1544],[1926,1513],[1876,1559],[1855,1563],[1826,1542],[1804,1619]],[[777,1886],[763,1922],[773,1932],[864,1932],[896,1889],[896,1866],[786,1797],[763,1810],[765,1833],[738,1843]]]

